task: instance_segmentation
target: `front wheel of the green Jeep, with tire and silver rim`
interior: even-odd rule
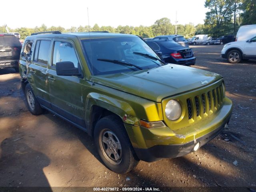
[[[96,123],[94,142],[105,166],[116,173],[127,173],[139,162],[122,120],[115,115]]]

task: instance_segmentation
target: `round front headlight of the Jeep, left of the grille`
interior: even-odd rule
[[[165,107],[165,115],[168,119],[174,121],[181,115],[181,106],[178,101],[170,100]]]

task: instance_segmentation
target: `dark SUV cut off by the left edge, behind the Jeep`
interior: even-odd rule
[[[16,36],[0,34],[0,68],[12,67],[18,72],[21,47]]]

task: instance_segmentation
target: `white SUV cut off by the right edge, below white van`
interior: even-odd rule
[[[221,57],[226,58],[230,63],[256,59],[256,36],[247,41],[236,41],[224,45]]]

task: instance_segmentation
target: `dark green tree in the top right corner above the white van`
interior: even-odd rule
[[[256,0],[242,0],[239,9],[242,11],[242,25],[256,24]]]

